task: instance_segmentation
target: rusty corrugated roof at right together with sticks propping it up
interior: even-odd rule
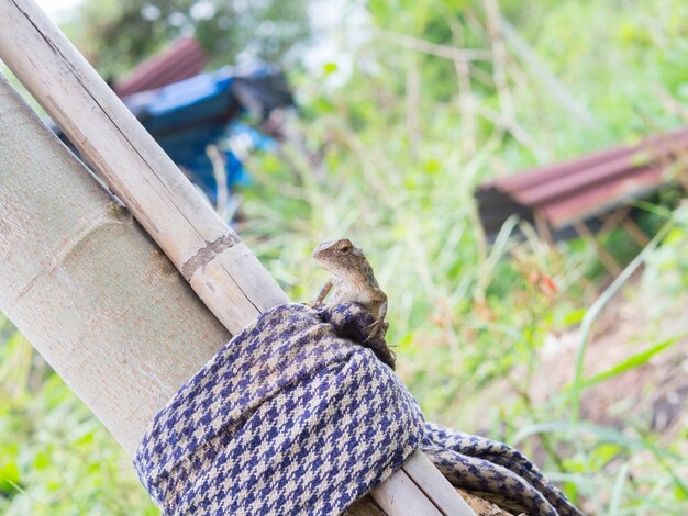
[[[475,192],[482,227],[495,238],[512,215],[534,225],[547,242],[581,236],[600,261],[621,267],[600,238],[621,226],[641,247],[650,238],[635,224],[632,202],[669,183],[686,183],[688,128],[651,136],[568,161],[547,165],[481,184]]]

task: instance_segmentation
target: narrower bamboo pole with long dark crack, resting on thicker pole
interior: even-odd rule
[[[0,31],[0,58],[104,178],[222,325],[237,333],[264,310],[288,301],[253,253],[203,202],[32,0],[0,0],[0,20],[4,26]],[[21,324],[18,326],[22,328]],[[60,360],[64,352],[57,352]],[[188,375],[196,369],[188,368]],[[79,370],[71,373],[77,377]],[[124,369],[119,377],[129,373]],[[71,384],[74,378],[65,380]],[[85,391],[93,394],[99,389],[100,385],[87,385]],[[79,390],[75,391],[79,394]],[[116,404],[116,400],[109,403]],[[132,417],[129,414],[125,419]],[[122,441],[116,417],[108,427]],[[132,441],[137,442],[144,427],[138,426],[124,439],[130,452]],[[433,498],[428,494],[437,489],[443,496]],[[433,507],[437,514],[474,514],[435,468],[404,467],[376,489],[373,497],[380,505],[409,500],[419,507]],[[447,500],[450,505],[444,505]],[[389,515],[404,515],[411,514],[412,506],[388,504],[385,508]],[[433,512],[429,509],[428,514]]]

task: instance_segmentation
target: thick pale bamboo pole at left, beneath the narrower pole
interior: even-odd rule
[[[1,75],[0,310],[130,455],[230,338]]]

